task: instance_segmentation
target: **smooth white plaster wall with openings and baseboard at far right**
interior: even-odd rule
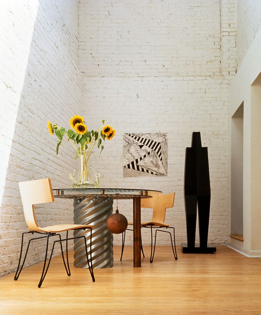
[[[259,8],[261,3],[259,4]],[[239,34],[240,36],[240,34]],[[251,36],[251,34],[250,34]],[[261,256],[260,237],[260,72],[261,24],[229,89],[229,120],[244,101],[243,236],[228,245],[248,256]],[[253,84],[254,83],[254,84]],[[229,134],[231,128],[229,128]],[[231,136],[229,136],[229,139]],[[229,165],[229,170],[231,165]]]

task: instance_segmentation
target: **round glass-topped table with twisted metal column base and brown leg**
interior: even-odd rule
[[[94,268],[113,266],[113,235],[107,229],[107,218],[112,214],[113,199],[133,200],[133,266],[141,267],[141,198],[151,198],[161,191],[130,188],[54,188],[55,198],[74,200],[74,223],[94,226],[92,258]],[[82,231],[74,231],[75,234]],[[86,232],[86,238],[88,238]],[[87,268],[82,244],[75,241],[74,266]]]

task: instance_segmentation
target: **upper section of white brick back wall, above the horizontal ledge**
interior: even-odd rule
[[[220,1],[88,1],[79,4],[84,75],[220,75]]]

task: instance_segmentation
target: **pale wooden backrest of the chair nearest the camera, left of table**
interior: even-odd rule
[[[42,231],[36,222],[33,205],[54,201],[50,178],[23,181],[18,184],[28,230]]]

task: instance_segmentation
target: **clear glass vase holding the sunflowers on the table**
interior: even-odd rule
[[[95,171],[89,158],[85,159],[81,155],[79,170],[74,170],[73,174],[70,174],[70,180],[72,188],[99,188],[100,173]]]

